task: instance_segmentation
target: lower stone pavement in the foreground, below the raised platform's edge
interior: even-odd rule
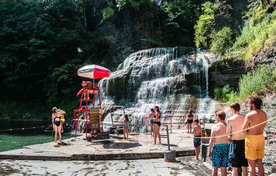
[[[212,167],[209,164],[194,161],[192,157],[178,157],[171,163],[164,162],[161,158],[107,161],[0,160],[0,175],[212,175]]]

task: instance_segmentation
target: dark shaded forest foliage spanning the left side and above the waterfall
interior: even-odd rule
[[[112,26],[114,23],[108,21],[113,19],[121,20],[115,18],[119,10],[153,5],[152,15],[166,28],[164,31],[189,32],[187,35],[192,36],[204,2],[0,0],[0,116],[49,118],[56,106],[71,117],[79,103],[75,95],[81,88],[77,70],[88,64],[112,70],[119,64],[112,62],[114,48],[106,39],[109,28],[103,27]],[[156,47],[171,46],[165,36],[148,41]]]

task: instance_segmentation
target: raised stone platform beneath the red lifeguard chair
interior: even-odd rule
[[[186,129],[169,132],[170,148],[176,150],[176,156],[195,155],[193,135],[185,133]],[[49,142],[23,147],[21,149],[0,152],[0,159],[23,160],[116,160],[116,159],[150,159],[163,158],[168,149],[167,133],[161,132],[161,143],[153,144],[154,138],[146,134],[129,135],[123,140],[120,135],[110,139],[91,141],[80,137],[63,140],[63,143]],[[158,142],[158,139],[157,139]],[[60,144],[60,145],[59,145]]]

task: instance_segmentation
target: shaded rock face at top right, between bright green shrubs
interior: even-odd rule
[[[256,1],[247,0],[217,0],[218,8],[215,10],[215,20],[211,29],[221,30],[224,26],[232,29],[233,37],[240,34],[240,29],[248,19],[244,13],[254,6]]]

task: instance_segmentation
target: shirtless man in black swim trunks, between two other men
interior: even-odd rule
[[[240,104],[234,102],[230,105],[231,113],[230,118],[227,119],[227,134],[235,133],[240,131],[245,115],[240,114]],[[229,135],[228,138],[232,139],[230,143],[229,152],[229,166],[232,167],[232,175],[238,176],[238,167],[242,167],[243,176],[247,176],[248,162],[245,158],[245,137],[246,134],[243,132]]]

